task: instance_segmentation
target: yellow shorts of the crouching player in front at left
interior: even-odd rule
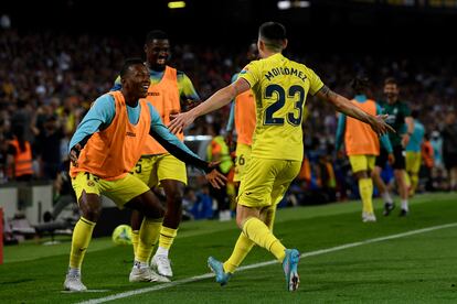
[[[76,177],[72,178],[72,185],[77,202],[79,202],[81,195],[85,191],[87,194],[103,194],[109,197],[120,209],[134,197],[149,191],[144,182],[131,174],[127,174],[120,180],[106,181],[88,172],[79,172]]]

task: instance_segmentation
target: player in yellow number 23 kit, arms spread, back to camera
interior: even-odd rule
[[[370,123],[376,133],[385,133],[390,127],[382,117],[368,115],[331,91],[312,69],[285,57],[281,52],[287,46],[286,29],[280,23],[262,24],[257,46],[262,59],[251,62],[235,83],[220,89],[205,102],[176,116],[169,128],[172,132],[181,131],[195,118],[253,90],[256,128],[252,159],[241,181],[236,207],[236,224],[243,232],[235,247],[243,256],[225,263],[210,257],[209,265],[216,274],[216,282],[226,284],[255,243],[270,251],[283,264],[287,290],[295,291],[299,283],[300,253],[297,249],[286,249],[273,235],[270,215],[278,197],[284,196],[300,171],[304,159],[301,122],[308,93],[330,101],[346,115]]]

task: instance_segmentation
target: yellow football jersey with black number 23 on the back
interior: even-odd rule
[[[322,88],[319,76],[278,53],[251,62],[238,77],[249,83],[256,100],[252,156],[302,161],[304,107],[308,93]]]

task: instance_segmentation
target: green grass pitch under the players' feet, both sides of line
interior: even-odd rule
[[[337,203],[280,209],[275,235],[301,253],[457,222],[457,194],[426,194],[411,199],[411,215],[390,217],[376,204],[378,222],[361,221],[361,204]],[[240,231],[234,221],[184,222],[171,250],[174,282],[208,273],[206,258],[226,259]],[[43,241],[43,240],[42,240]],[[43,246],[35,241],[4,248],[0,303],[77,303],[157,286],[129,283],[130,247],[94,239],[83,265],[83,282],[105,292],[63,293],[70,238]],[[270,261],[255,248],[243,265]],[[237,272],[221,287],[213,278],[116,300],[117,303],[457,303],[457,227],[364,243],[304,258],[300,287],[286,291],[279,264]]]

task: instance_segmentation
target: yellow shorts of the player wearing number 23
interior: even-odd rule
[[[251,159],[240,185],[237,203],[258,208],[278,204],[300,167],[299,161]]]

